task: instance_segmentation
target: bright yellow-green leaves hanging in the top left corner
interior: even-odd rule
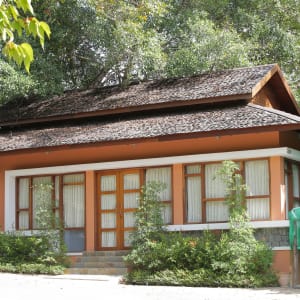
[[[16,43],[16,33],[19,38],[24,34],[37,37],[42,47],[44,47],[45,35],[50,37],[48,24],[34,17],[31,0],[0,1],[0,35],[4,43],[3,54],[18,65],[23,63],[29,72],[33,61],[32,47],[28,43]]]

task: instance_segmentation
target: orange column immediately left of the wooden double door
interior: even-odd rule
[[[85,173],[85,231],[86,231],[86,251],[95,250],[95,172]]]

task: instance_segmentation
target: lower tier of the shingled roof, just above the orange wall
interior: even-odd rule
[[[275,109],[238,102],[226,107],[185,109],[180,112],[86,120],[0,132],[0,152],[63,145],[168,138],[174,135],[221,135],[260,128],[299,129],[300,117]]]

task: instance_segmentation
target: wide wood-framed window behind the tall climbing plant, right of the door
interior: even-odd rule
[[[268,160],[240,162],[244,173],[247,211],[252,220],[270,217]],[[185,166],[185,204],[187,223],[225,222],[229,211],[225,203],[225,184],[216,176],[221,163]]]

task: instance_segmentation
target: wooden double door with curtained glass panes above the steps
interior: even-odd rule
[[[98,250],[130,247],[142,184],[143,171],[140,169],[97,173]]]

